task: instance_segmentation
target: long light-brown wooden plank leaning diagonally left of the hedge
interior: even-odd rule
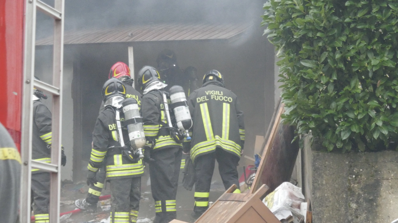
[[[285,112],[284,109],[285,104],[280,104],[279,105],[279,110],[278,113],[275,117],[275,122],[273,124],[273,127],[271,129],[271,133],[269,135],[269,138],[267,140],[267,144],[265,144],[265,148],[263,150],[263,154],[261,155],[261,161],[260,161],[260,165],[259,165],[259,169],[256,172],[256,177],[254,178],[253,184],[252,184],[252,188],[250,188],[250,194],[253,194],[254,192],[256,192],[258,186],[260,185],[260,177],[261,177],[261,173],[264,171],[264,164],[265,164],[265,160],[267,160],[267,156],[269,155],[269,152],[271,151],[271,146],[273,143],[273,140],[275,138],[275,135],[277,133],[279,124],[281,123],[281,115],[283,112]]]

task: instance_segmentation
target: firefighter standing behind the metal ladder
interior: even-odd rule
[[[35,79],[38,79],[35,77]],[[33,90],[33,131],[32,160],[51,163],[51,112],[40,100],[47,96],[40,90]],[[62,147],[61,165],[65,166],[66,156]],[[50,173],[32,169],[31,203],[36,223],[49,222]]]

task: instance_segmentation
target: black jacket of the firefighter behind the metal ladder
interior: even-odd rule
[[[51,163],[51,112],[40,100],[33,101],[32,160]],[[32,169],[32,173],[42,170]]]

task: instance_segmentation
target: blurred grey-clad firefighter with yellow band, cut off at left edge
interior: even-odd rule
[[[20,196],[21,157],[7,129],[0,123],[0,216],[16,223]]]

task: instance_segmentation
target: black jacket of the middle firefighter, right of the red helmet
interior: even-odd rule
[[[141,111],[145,138],[149,142],[155,141],[154,151],[164,148],[182,148],[182,144],[176,142],[170,135],[170,129],[162,128],[167,127],[168,122],[161,92],[167,95],[167,103],[170,104],[170,97],[164,89],[152,90],[142,97]],[[172,110],[170,110],[170,118],[172,123],[175,123],[176,119]]]

